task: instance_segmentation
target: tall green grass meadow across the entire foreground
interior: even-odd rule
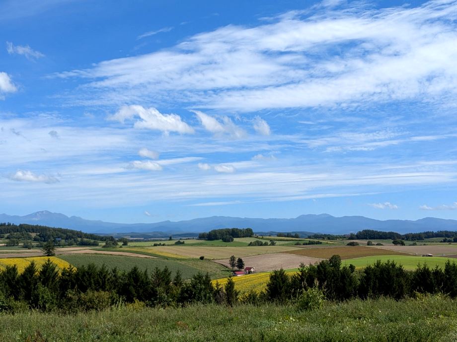
[[[327,302],[314,311],[274,304],[165,309],[130,304],[76,315],[3,313],[0,341],[449,342],[457,341],[457,301],[427,295]]]

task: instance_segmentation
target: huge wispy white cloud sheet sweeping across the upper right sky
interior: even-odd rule
[[[454,103],[455,1],[312,12],[221,27],[167,50],[58,76],[91,80],[84,95],[99,103],[172,99],[243,112],[368,101]]]

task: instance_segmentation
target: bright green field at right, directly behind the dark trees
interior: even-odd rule
[[[393,260],[397,264],[401,264],[405,270],[415,270],[418,264],[423,264],[424,262],[430,268],[439,266],[444,268],[448,258],[445,257],[421,257],[421,256],[409,256],[409,255],[375,255],[362,258],[346,259],[342,260],[341,264],[343,266],[353,264],[356,268],[364,268],[368,265],[374,264],[377,260],[385,262],[387,260]],[[455,259],[450,259],[453,262]]]

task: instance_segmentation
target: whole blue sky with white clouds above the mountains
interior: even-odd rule
[[[457,1],[0,0],[0,212],[457,219]]]

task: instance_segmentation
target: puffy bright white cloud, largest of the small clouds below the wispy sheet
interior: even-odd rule
[[[123,106],[116,113],[108,117],[109,120],[124,123],[125,120],[131,120],[139,117],[134,123],[135,128],[146,128],[159,130],[165,133],[194,133],[194,129],[181,120],[177,114],[161,114],[155,108],[144,108],[138,105]]]

